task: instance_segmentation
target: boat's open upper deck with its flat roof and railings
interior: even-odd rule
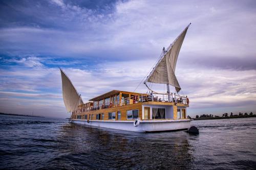
[[[168,101],[167,94],[159,93],[137,93],[129,91],[112,90],[90,99],[88,103],[79,105],[74,113],[91,112],[102,109],[115,108],[120,106],[141,104],[172,105],[189,107],[187,96],[180,96],[171,93],[171,101]]]

